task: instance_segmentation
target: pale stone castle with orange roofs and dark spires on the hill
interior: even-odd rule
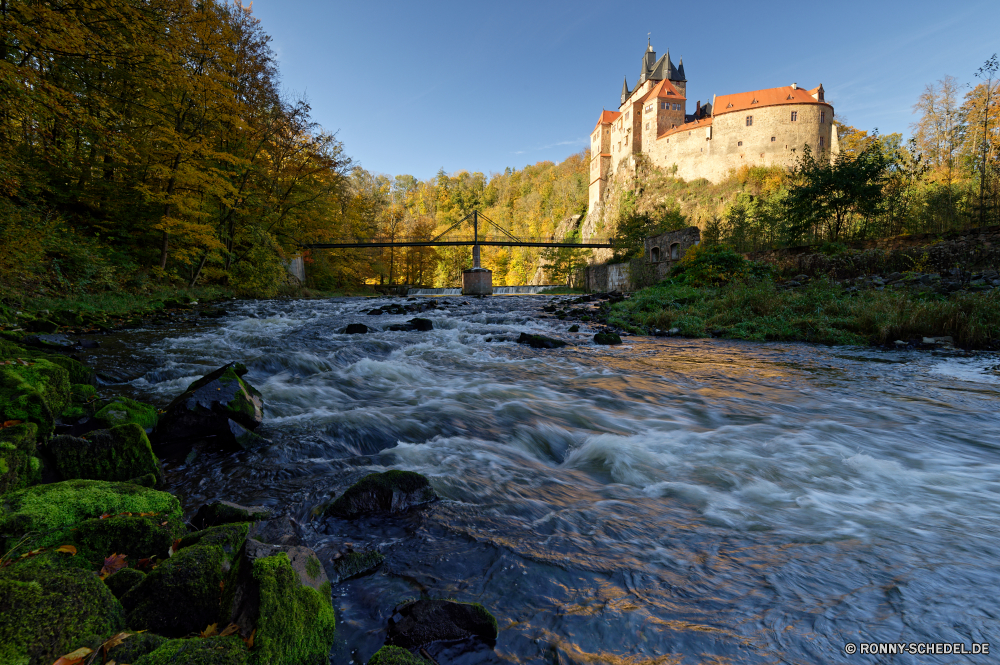
[[[696,102],[691,113],[686,93],[684,59],[674,67],[669,50],[657,60],[647,45],[635,88],[628,89],[626,77],[618,110],[601,113],[591,134],[591,210],[608,179],[619,168],[634,170],[640,153],[685,180],[718,182],[744,164],[792,166],[806,145],[820,158],[839,152],[822,84],[721,95]]]

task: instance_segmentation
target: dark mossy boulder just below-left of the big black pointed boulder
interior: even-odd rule
[[[65,480],[124,482],[147,473],[160,473],[160,461],[153,454],[146,432],[135,423],[94,430],[84,437],[57,436],[45,451]]]

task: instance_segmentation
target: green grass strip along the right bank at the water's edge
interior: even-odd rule
[[[638,334],[678,328],[753,341],[886,344],[951,336],[957,346],[1000,342],[1000,292],[949,297],[908,291],[846,291],[826,280],[782,290],[769,279],[721,287],[665,280],[612,306],[608,323]]]

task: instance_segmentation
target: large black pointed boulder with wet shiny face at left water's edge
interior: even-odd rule
[[[154,449],[183,456],[194,442],[211,439],[226,449],[252,449],[266,442],[254,434],[264,419],[264,401],[241,377],[246,368],[228,364],[198,379],[160,417]]]

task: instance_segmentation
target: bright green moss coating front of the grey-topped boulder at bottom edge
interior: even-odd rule
[[[336,634],[330,596],[300,584],[284,552],[253,562],[260,614],[251,662],[326,663]]]

